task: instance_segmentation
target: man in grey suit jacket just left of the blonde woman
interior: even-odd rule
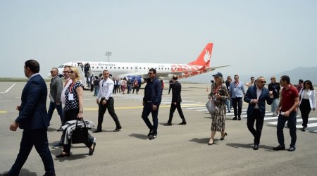
[[[56,108],[59,117],[61,118],[61,125],[63,125],[63,108],[61,103],[61,92],[63,91],[63,82],[61,77],[58,76],[58,68],[51,69],[51,84],[49,84],[49,98],[51,102],[49,103],[49,120],[51,121],[51,117]]]

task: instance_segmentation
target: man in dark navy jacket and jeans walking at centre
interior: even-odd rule
[[[154,68],[149,69],[148,75],[149,80],[144,87],[142,119],[149,128],[147,136],[152,140],[157,137],[157,127],[159,125],[157,115],[159,114],[159,106],[162,99],[162,85],[161,81],[156,78],[156,70]],[[152,114],[153,125],[148,118],[149,113]]]

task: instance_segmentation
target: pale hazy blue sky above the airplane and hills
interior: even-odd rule
[[[317,66],[317,1],[0,1],[0,77],[68,61],[189,63],[213,42],[223,75]]]

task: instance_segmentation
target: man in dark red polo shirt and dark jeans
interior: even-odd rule
[[[290,84],[290,77],[287,75],[283,75],[280,77],[280,86],[282,89],[282,99],[278,104],[278,109],[276,110],[278,115],[278,143],[279,146],[273,147],[275,151],[285,150],[284,144],[284,134],[283,128],[285,126],[285,122],[287,121],[288,127],[290,127],[290,136],[291,136],[291,144],[288,151],[296,150],[296,109],[299,105],[299,94],[292,84]]]

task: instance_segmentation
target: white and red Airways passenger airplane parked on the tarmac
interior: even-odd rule
[[[223,68],[229,65],[223,65],[218,67],[209,67],[211,62],[211,51],[213,49],[213,43],[208,43],[204,47],[203,51],[199,54],[196,60],[187,64],[178,63],[123,63],[123,62],[94,62],[94,61],[73,61],[64,63],[58,66],[58,73],[63,75],[63,67],[65,65],[77,67],[80,70],[82,82],[86,83],[85,73],[83,72],[80,65],[89,63],[89,75],[98,76],[103,70],[108,70],[111,76],[120,80],[124,77],[127,79],[135,80],[139,84],[143,84],[144,80],[149,78],[147,74],[150,68],[156,69],[156,76],[166,80],[170,79],[173,75],[177,75],[178,79],[193,77],[203,73],[211,72],[216,68]],[[50,74],[49,74],[50,75]]]

